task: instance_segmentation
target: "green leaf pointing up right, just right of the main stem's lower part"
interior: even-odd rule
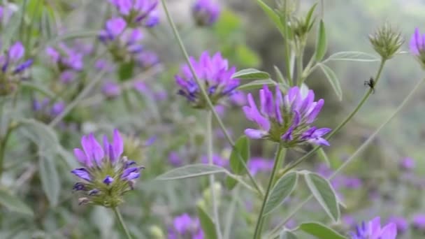
[[[283,203],[285,198],[291,195],[297,182],[298,174],[296,172],[287,173],[276,182],[264,207],[264,216],[273,212],[273,210]]]

